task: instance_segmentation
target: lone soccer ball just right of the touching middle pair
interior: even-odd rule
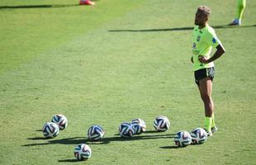
[[[170,128],[170,121],[164,115],[159,115],[154,120],[154,129],[156,131],[166,131]]]

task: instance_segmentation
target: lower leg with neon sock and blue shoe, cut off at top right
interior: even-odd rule
[[[236,17],[235,19],[229,24],[229,26],[240,26],[242,16],[244,13],[246,0],[237,0],[237,8],[236,8]]]

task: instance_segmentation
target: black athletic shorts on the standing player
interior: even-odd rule
[[[214,67],[211,67],[211,68],[201,68],[199,70],[196,70],[194,73],[195,73],[195,82],[199,86],[199,81],[202,78],[211,78],[211,81],[213,80],[215,69],[214,69]]]

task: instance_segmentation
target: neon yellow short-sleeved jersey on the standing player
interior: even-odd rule
[[[221,44],[214,29],[208,25],[202,29],[198,29],[198,26],[195,26],[192,34],[192,40],[192,58],[194,62],[193,70],[196,71],[201,68],[213,67],[213,62],[209,64],[201,64],[198,60],[198,56],[202,55],[206,59],[210,59],[212,47],[216,48],[217,45]]]

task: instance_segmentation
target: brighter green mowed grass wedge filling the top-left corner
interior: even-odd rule
[[[96,7],[88,7],[76,6],[76,0],[3,1],[0,3],[2,7],[17,8],[0,9],[0,73],[16,68],[38,54],[53,50],[68,40],[97,29],[133,8],[140,7],[144,2],[99,1]],[[29,7],[33,5],[52,7]]]

